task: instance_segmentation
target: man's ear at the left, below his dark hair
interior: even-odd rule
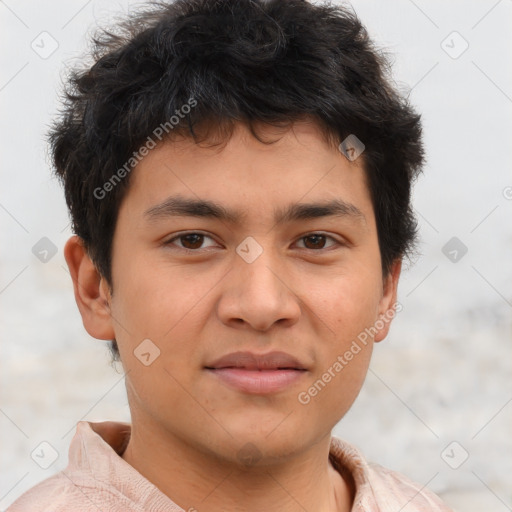
[[[73,279],[75,300],[82,315],[85,330],[93,338],[114,339],[109,288],[89,258],[80,237],[72,236],[66,242],[64,257]]]

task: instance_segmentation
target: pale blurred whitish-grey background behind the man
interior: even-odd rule
[[[77,421],[129,421],[122,371],[74,301],[45,133],[66,66],[98,22],[135,5],[0,2],[2,510],[66,467]],[[334,434],[457,511],[512,510],[512,1],[352,5],[423,115],[428,163],[403,310]],[[47,468],[31,457],[43,442]]]

